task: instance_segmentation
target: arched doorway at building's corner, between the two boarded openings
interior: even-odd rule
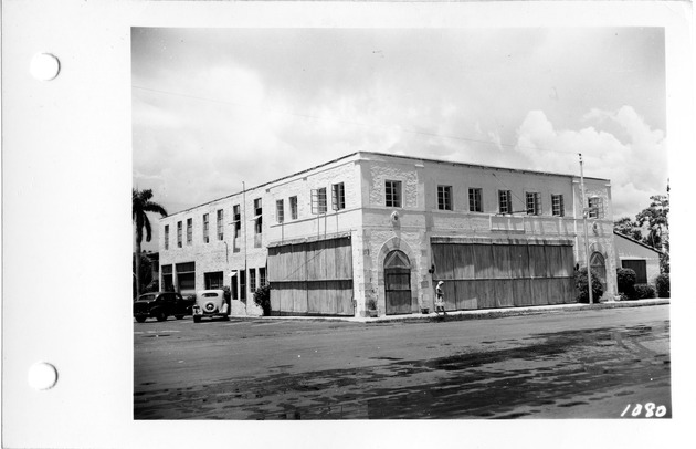
[[[411,313],[411,262],[402,251],[384,259],[384,296],[387,315]]]

